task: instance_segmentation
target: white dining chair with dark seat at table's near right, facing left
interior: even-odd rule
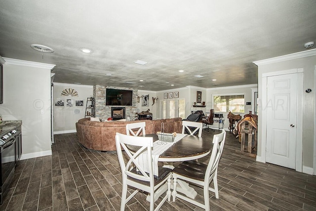
[[[209,196],[208,191],[215,193],[216,199],[219,198],[217,185],[217,167],[222,156],[226,132],[222,129],[220,134],[213,137],[213,149],[208,164],[203,164],[197,161],[185,161],[172,170],[173,175],[173,191],[172,200],[176,197],[183,199],[191,204],[194,204],[205,211],[209,211]],[[177,180],[184,180],[189,183],[194,183],[203,187],[204,204],[197,202],[194,199],[177,193]],[[209,187],[211,181],[214,183],[214,188]]]

